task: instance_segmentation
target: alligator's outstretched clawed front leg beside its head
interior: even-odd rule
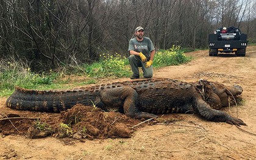
[[[194,109],[197,113],[204,117],[207,120],[215,121],[215,122],[227,122],[231,125],[246,125],[243,120],[238,119],[236,117],[232,117],[223,111],[214,110],[210,108],[210,106],[204,102],[202,99],[196,99],[196,103],[194,105]]]

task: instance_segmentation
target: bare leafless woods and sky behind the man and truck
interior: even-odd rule
[[[135,27],[157,49],[206,49],[218,27],[239,27],[256,43],[254,0],[1,0],[0,56],[34,72],[128,57]]]

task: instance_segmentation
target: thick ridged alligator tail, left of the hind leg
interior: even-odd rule
[[[77,103],[91,105],[94,100],[94,92],[87,89],[38,91],[16,87],[6,106],[15,110],[60,112]]]

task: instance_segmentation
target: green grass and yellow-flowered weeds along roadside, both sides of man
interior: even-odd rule
[[[187,63],[191,57],[184,53],[190,51],[192,50],[181,49],[180,46],[158,50],[155,54],[154,68]],[[132,75],[127,57],[121,57],[119,54],[102,54],[100,60],[95,63],[69,66],[68,69],[62,69],[62,72],[34,73],[30,71],[28,63],[14,58],[0,59],[0,68],[0,97],[10,96],[15,86],[27,89],[70,89],[97,83],[98,78],[121,78]]]

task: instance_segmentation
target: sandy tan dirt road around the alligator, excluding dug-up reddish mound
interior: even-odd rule
[[[247,47],[246,57],[209,57],[208,50],[188,55],[194,60],[155,71],[154,77],[242,86],[243,104],[223,110],[247,126],[208,122],[193,114],[169,114],[166,117],[179,120],[169,125],[146,125],[127,139],[79,141],[2,135],[0,159],[256,159],[256,46]],[[0,111],[7,110],[5,100],[0,100]]]

